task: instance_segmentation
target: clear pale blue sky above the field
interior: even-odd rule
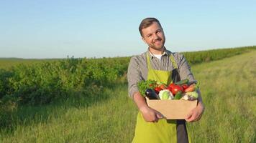
[[[256,1],[1,0],[0,57],[141,54],[146,17],[160,21],[170,51],[256,45]]]

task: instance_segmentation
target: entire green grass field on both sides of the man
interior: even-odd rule
[[[192,66],[206,106],[200,122],[188,123],[193,142],[256,142],[255,55]],[[21,106],[0,142],[131,142],[136,116],[127,84],[119,84],[101,97]]]

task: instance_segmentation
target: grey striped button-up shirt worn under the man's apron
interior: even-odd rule
[[[135,92],[139,92],[137,83],[141,80],[147,80],[147,53],[150,55],[150,63],[153,69],[172,71],[174,66],[170,60],[170,54],[173,54],[175,62],[178,64],[178,72],[180,79],[188,79],[189,81],[195,81],[191,72],[191,67],[188,65],[186,58],[183,54],[173,53],[165,49],[161,60],[157,59],[149,50],[137,56],[133,56],[129,62],[127,80],[128,80],[128,92],[129,97],[133,97]]]

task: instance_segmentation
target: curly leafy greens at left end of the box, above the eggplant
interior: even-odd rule
[[[154,80],[146,80],[138,82],[137,86],[139,87],[139,92],[142,97],[145,97],[145,92],[147,89],[155,89],[157,87],[157,82]]]

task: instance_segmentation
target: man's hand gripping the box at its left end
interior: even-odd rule
[[[163,119],[163,115],[160,112],[147,106],[141,107],[140,112],[146,122],[158,122],[158,119]]]

